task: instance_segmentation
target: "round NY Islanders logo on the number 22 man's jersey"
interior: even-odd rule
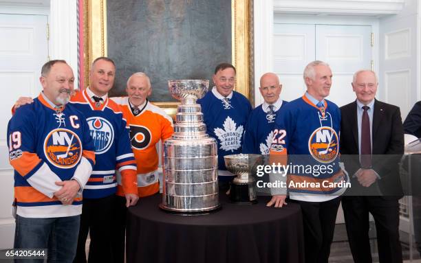
[[[336,131],[327,126],[314,130],[308,140],[308,150],[312,157],[321,163],[334,161],[339,152]]]

